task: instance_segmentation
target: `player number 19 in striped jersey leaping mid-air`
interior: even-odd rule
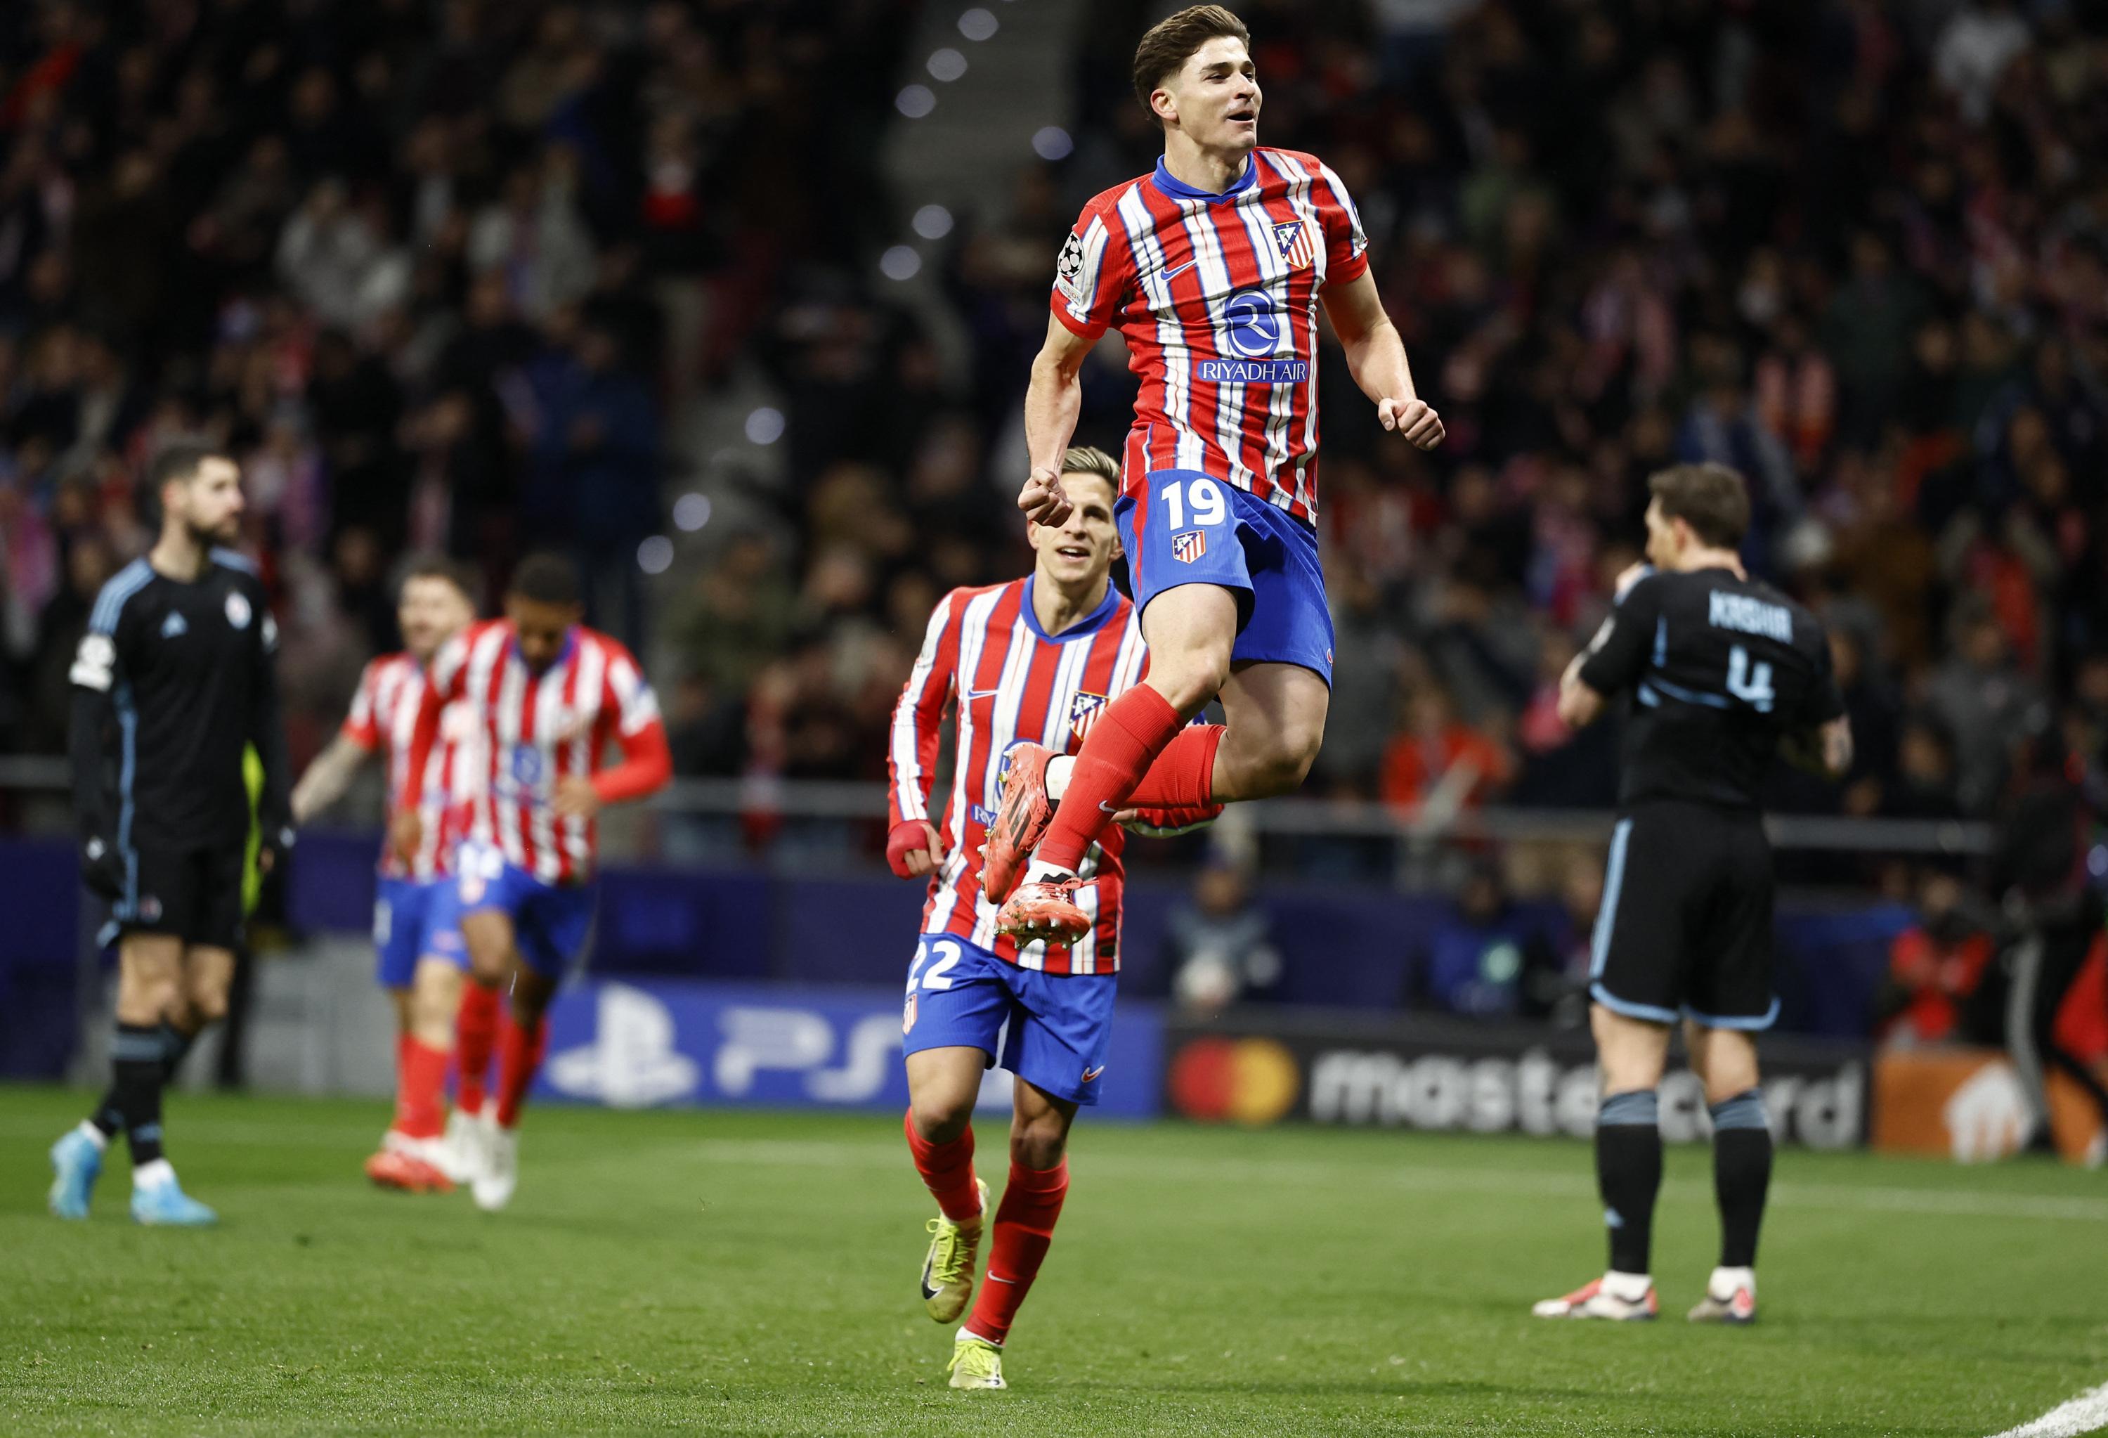
[[[1090,200],[1056,264],[1018,508],[1067,521],[1077,373],[1117,327],[1143,390],[1115,521],[1151,660],[1073,761],[1012,757],[982,886],[1008,896],[997,928],[1018,938],[1090,930],[1077,869],[1115,812],[1286,793],[1318,755],[1332,681],[1315,529],[1320,302],[1383,428],[1442,443],[1347,188],[1315,156],[1258,145],[1248,42],[1218,4],[1143,36],[1134,93],[1164,127],[1164,158]],[[1212,698],[1227,725],[1183,732]]]

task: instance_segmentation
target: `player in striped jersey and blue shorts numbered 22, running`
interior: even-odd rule
[[[1062,523],[1027,527],[1037,555],[1033,574],[953,590],[930,616],[894,708],[887,755],[885,858],[902,879],[930,879],[904,1031],[909,1151],[938,1204],[921,1276],[923,1305],[938,1322],[965,1311],[980,1257],[989,1204],[989,1185],[974,1177],[980,1075],[997,1061],[1016,1075],[1010,1185],[995,1210],[989,1282],[951,1356],[951,1385],[968,1390],[1003,1387],[1003,1341],[1069,1191],[1069,1124],[1077,1105],[1098,1101],[1119,972],[1117,829],[1077,864],[1077,898],[1092,913],[1081,943],[1020,945],[1001,936],[995,905],[980,892],[980,846],[1003,755],[1024,744],[1075,749],[1145,662],[1134,607],[1107,576],[1119,552],[1119,464],[1102,449],[1069,449],[1062,477],[1073,493]],[[946,704],[957,706],[957,751],[951,795],[932,827],[930,786]],[[1216,812],[1124,818],[1170,833]]]

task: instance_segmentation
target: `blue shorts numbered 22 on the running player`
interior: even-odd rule
[[[955,934],[923,934],[909,968],[902,1050],[978,1048],[991,1069],[999,1063],[1056,1099],[1092,1105],[1117,983],[1117,974],[1041,974]]]

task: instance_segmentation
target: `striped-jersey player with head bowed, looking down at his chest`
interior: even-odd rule
[[[455,848],[470,985],[457,1025],[464,1168],[481,1208],[504,1208],[519,1185],[519,1111],[542,1067],[548,1002],[592,926],[594,820],[672,778],[658,698],[630,652],[580,624],[578,571],[529,555],[506,590],[506,618],[472,624],[432,660],[417,706],[411,770],[438,738],[447,704],[468,706],[476,774],[466,837]],[[622,763],[603,767],[609,744]],[[403,805],[392,839],[405,856],[424,818]],[[512,1002],[500,1014],[500,987]],[[495,1103],[483,1075],[497,1048]]]

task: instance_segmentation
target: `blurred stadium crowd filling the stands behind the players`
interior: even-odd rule
[[[571,548],[689,774],[873,778],[934,599],[1022,567],[1014,428],[1079,205],[1147,169],[1153,15],[1090,0],[1073,152],[938,255],[963,384],[873,268],[913,0],[270,0],[0,15],[0,742],[141,544],[131,477],[249,468],[295,751],[392,643],[388,571]],[[1252,0],[1263,139],[1355,194],[1450,439],[1326,356],[1328,795],[1606,805],[1558,675],[1644,477],[1724,460],[1752,567],[1836,630],[1842,791],[1984,816],[2043,713],[2108,736],[2108,32],[2062,0]],[[790,181],[786,181],[790,177]],[[647,603],[672,415],[780,396],[786,485]],[[1117,447],[1117,335],[1079,441]],[[683,481],[691,487],[691,481]],[[2049,711],[2043,706],[2049,704]]]

